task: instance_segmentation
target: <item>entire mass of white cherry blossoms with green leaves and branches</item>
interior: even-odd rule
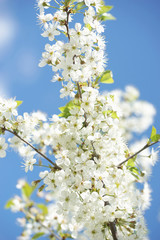
[[[48,163],[33,186],[20,181],[22,196],[7,203],[25,215],[19,219],[24,231],[18,239],[43,235],[59,240],[147,239],[143,217],[151,200],[147,180],[157,160],[157,153],[148,147],[159,141],[159,135],[153,128],[142,147],[148,151],[145,158],[136,158],[136,146],[130,150],[126,141],[152,124],[155,109],[138,100],[139,92],[131,86],[125,92],[98,91],[100,82],[112,81],[110,71],[105,71],[101,36],[101,21],[112,18],[111,7],[99,0],[37,3],[42,36],[50,42],[39,65],[52,67],[52,81],[62,83],[60,97],[69,96],[70,101],[59,115],[47,119],[41,112],[20,116],[20,101],[0,98],[0,133],[14,135],[8,142],[24,159],[25,171]],[[83,25],[75,23],[78,17]],[[7,147],[3,136],[0,157],[5,157]],[[37,186],[45,204],[30,198]]]

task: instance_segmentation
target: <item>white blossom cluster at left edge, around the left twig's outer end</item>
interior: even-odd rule
[[[24,145],[25,142],[34,142],[32,139],[38,134],[38,126],[42,121],[46,120],[45,114],[41,112],[37,113],[24,113],[23,116],[18,115],[17,107],[21,104],[21,101],[15,99],[3,99],[0,98],[0,133],[4,134],[6,131],[11,132],[15,136],[9,138],[10,147],[14,148],[24,158],[25,171],[33,170],[33,164],[36,163],[34,158],[36,152],[28,145]],[[19,138],[16,137],[18,134]],[[36,142],[37,143],[37,142]],[[0,138],[0,157],[6,156],[5,150],[8,144],[5,142],[5,138]]]

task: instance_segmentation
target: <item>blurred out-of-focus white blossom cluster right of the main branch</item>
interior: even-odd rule
[[[119,106],[120,126],[126,140],[131,140],[134,133],[145,132],[153,124],[156,110],[151,103],[139,100],[138,89],[127,86],[125,91],[114,90],[110,94],[115,96],[114,101]]]

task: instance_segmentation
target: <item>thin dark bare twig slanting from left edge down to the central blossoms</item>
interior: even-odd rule
[[[24,140],[22,137],[20,137],[16,132],[9,130],[7,128],[4,128],[4,131],[10,132],[13,135],[15,135],[16,137],[18,137],[22,142],[24,142],[25,144],[27,144],[28,146],[30,146],[35,152],[37,152],[39,155],[41,155],[43,158],[45,158],[48,162],[50,162],[54,168],[56,170],[61,170],[61,168],[54,162],[52,162],[47,156],[45,156],[43,153],[41,153],[37,148],[35,148],[33,145],[31,145],[29,142],[27,142],[26,140]]]

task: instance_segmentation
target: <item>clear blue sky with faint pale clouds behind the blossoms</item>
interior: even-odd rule
[[[20,113],[41,110],[50,116],[64,105],[59,98],[60,86],[51,83],[51,69],[38,63],[46,39],[40,36],[35,0],[0,0],[0,94],[23,100]],[[160,2],[159,0],[108,0],[116,21],[106,23],[108,68],[115,83],[102,90],[123,89],[132,84],[141,92],[141,99],[157,109],[154,125],[160,132]],[[150,130],[146,133],[149,136]],[[18,194],[18,178],[37,179],[38,171],[26,174],[22,160],[9,151],[0,159],[0,239],[12,240],[20,234],[16,214],[4,210],[7,199]],[[146,213],[151,240],[160,239],[160,163],[150,180],[152,206]]]

